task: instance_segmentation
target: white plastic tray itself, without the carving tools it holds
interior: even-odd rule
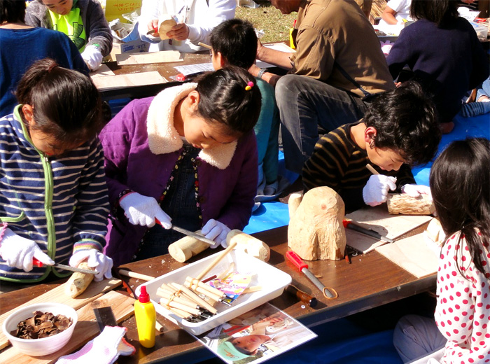
[[[160,302],[160,297],[158,297],[156,293],[162,283],[184,283],[187,276],[195,277],[200,274],[202,270],[211,264],[217,255],[219,255],[219,253],[210,255],[207,258],[193,262],[190,265],[176,269],[174,272],[169,272],[141,285],[146,286],[151,301],[155,304],[155,309],[159,314],[162,314],[162,316],[165,316],[170,321],[194,335],[200,335],[203,332],[216,328],[216,326],[230,321],[232,318],[244,314],[245,312],[260,306],[260,304],[278,297],[283,293],[284,288],[291,283],[291,276],[280,269],[272,267],[272,265],[262,262],[262,260],[241,251],[231,251],[218,263],[218,265],[216,265],[216,267],[211,269],[204,278],[212,276],[213,274],[219,275],[222,272],[225,272],[225,270],[230,267],[230,264],[235,262],[235,271],[242,274],[253,274],[250,286],[261,286],[262,290],[240,295],[237,300],[232,302],[231,306],[218,303],[216,305],[218,313],[199,323],[192,323],[184,320],[158,303]],[[139,295],[141,286],[136,290],[137,295]]]

